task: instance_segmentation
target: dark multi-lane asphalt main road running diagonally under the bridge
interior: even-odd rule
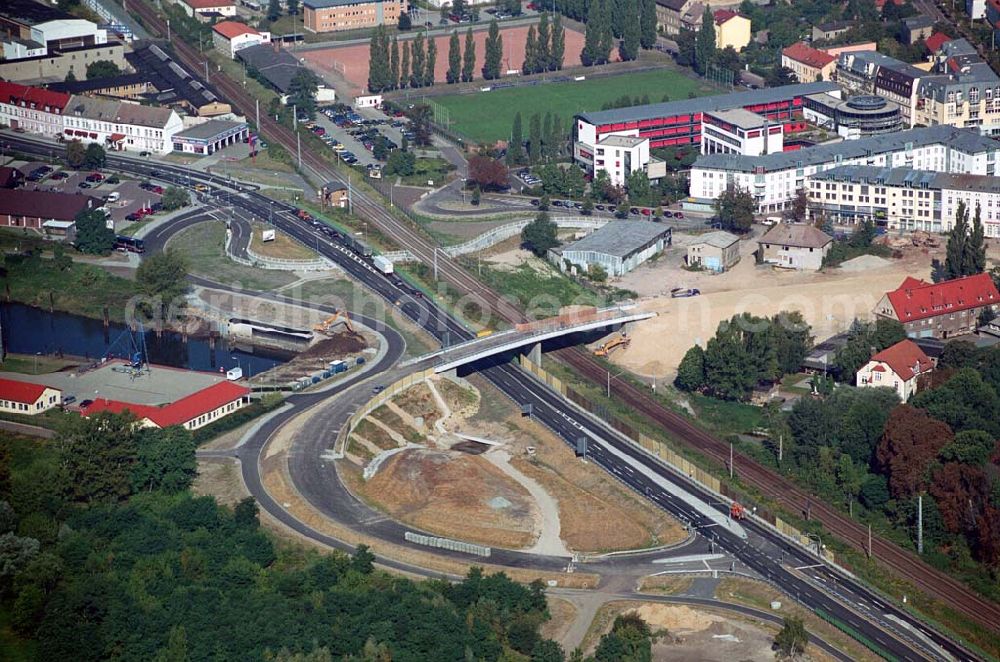
[[[19,146],[22,149],[32,149],[31,141],[24,141],[18,137],[10,142],[15,141],[20,143]],[[43,143],[41,149],[47,152],[51,149],[51,145]],[[191,178],[194,177],[199,181],[229,184],[227,180],[222,178],[190,172],[176,166],[150,166],[145,162],[118,156],[109,157],[109,161],[112,166],[123,167],[132,172],[143,172],[145,169],[144,174],[175,183],[190,183]],[[148,172],[150,170],[158,170],[159,172]],[[239,185],[238,188],[241,191],[238,195],[220,192],[216,189],[212,191],[211,197],[220,204],[235,204],[251,213],[262,216],[266,215],[274,204],[253,192],[253,187]],[[332,242],[328,237],[317,237],[311,227],[294,218],[286,205],[279,204],[274,208],[280,209],[280,212],[274,216],[274,223],[277,227],[304,241],[307,245],[313,245],[315,241],[319,252],[336,262],[350,276],[366,287],[377,292],[390,303],[397,305],[404,314],[414,319],[429,333],[441,340],[443,344],[447,345],[452,340],[471,337],[468,330],[434,303],[424,298],[415,297],[406,289],[400,289],[375,270],[370,263],[355,255],[342,244]],[[372,322],[378,324],[378,320],[372,320]],[[382,326],[384,327],[384,325]],[[903,660],[947,659],[949,655],[957,659],[974,659],[974,656],[961,646],[921,624],[907,612],[896,608],[883,596],[850,576],[821,563],[819,559],[802,547],[789,543],[779,534],[756,521],[748,520],[743,523],[743,528],[748,534],[746,539],[740,538],[722,527],[705,526],[703,516],[692,511],[686,503],[676,498],[676,494],[682,487],[706,503],[713,503],[715,495],[704,491],[696,483],[688,481],[686,477],[676,475],[671,469],[638,450],[632,443],[623,439],[617,432],[607,428],[602,422],[575,410],[570,403],[535,381],[527,373],[509,364],[486,367],[482,372],[514,402],[532,404],[533,415],[567,440],[568,443],[575,443],[581,435],[587,436],[588,457],[590,459],[610,471],[618,480],[640,494],[645,494],[660,507],[689,521],[708,540],[709,545],[714,544],[718,549],[733,555],[748,568],[768,578],[803,604],[814,610],[822,610],[825,614],[853,628],[888,654]],[[346,386],[340,391],[345,389]],[[359,392],[359,397],[360,395]],[[318,402],[328,396],[329,394],[316,394],[301,397],[316,397]],[[299,403],[293,402],[293,405],[298,407]],[[259,478],[257,473],[259,467],[257,462],[252,461],[252,458],[256,457],[252,454],[259,453],[258,444],[259,447],[263,447],[264,440],[278,427],[282,418],[272,418],[255,435],[252,443],[242,448],[240,453],[251,454],[241,455],[241,459],[243,459],[241,464],[244,478],[250,479],[248,486],[260,490],[259,498],[262,507],[267,508],[269,512],[282,521],[286,521],[290,517],[288,513],[269,495],[263,493],[259,480],[256,484],[253,483],[254,476]],[[333,437],[335,435],[327,435],[328,440]],[[291,465],[293,467],[302,467],[310,462],[315,465],[317,462],[315,455],[310,458],[309,454],[302,453],[300,449],[296,449],[292,455]],[[296,455],[304,455],[304,457],[296,458],[294,457]],[[637,467],[640,468],[637,469]],[[311,479],[296,475],[294,470],[292,474],[296,486],[299,489],[305,487],[308,491]],[[310,496],[306,493],[304,495],[307,498]],[[324,498],[322,495],[313,496]],[[324,505],[321,502],[320,507],[334,508],[335,504],[326,503]],[[717,507],[720,510],[726,508],[724,504],[718,504]],[[339,513],[341,511],[334,510],[333,512]],[[294,518],[291,519],[294,520]],[[380,523],[370,522],[370,524]],[[296,523],[293,528],[296,526],[301,527],[302,525]],[[703,526],[704,528],[701,528]],[[324,540],[323,542],[328,541]],[[343,547],[342,544],[334,544],[334,546]],[[468,557],[465,558],[468,559]],[[621,563],[620,559],[616,559],[616,561]],[[540,562],[544,564],[548,561],[542,559]],[[634,560],[630,562],[634,562]],[[391,567],[405,566],[405,564],[399,564],[392,559],[385,559],[384,563]],[[615,565],[615,562],[607,563],[611,563],[612,567]],[[601,565],[593,566],[595,571],[600,571],[602,567]],[[413,571],[411,568],[401,567],[401,569]],[[608,570],[610,571],[611,568]]]

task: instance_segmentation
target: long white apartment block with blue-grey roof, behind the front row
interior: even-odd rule
[[[1000,144],[976,131],[932,126],[781,154],[706,154],[691,168],[690,194],[696,201],[712,201],[736,186],[750,191],[760,212],[782,211],[791,207],[810,177],[838,166],[994,175],[998,151]]]

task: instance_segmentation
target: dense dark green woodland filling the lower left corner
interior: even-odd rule
[[[0,600],[39,659],[563,660],[541,582],[278,548],[252,499],[193,497],[194,474],[188,431],[128,415],[0,433]]]

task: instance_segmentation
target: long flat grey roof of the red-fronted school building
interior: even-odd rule
[[[240,53],[242,52],[244,51],[240,51]],[[631,106],[629,108],[616,108],[613,110],[580,113],[577,117],[588,124],[634,122],[657,119],[660,117],[671,117],[674,115],[700,113],[703,111],[745,108],[747,106],[756,106],[757,104],[762,103],[785,101],[787,99],[793,99],[807,94],[816,94],[817,92],[832,92],[837,89],[840,88],[837,87],[836,83],[825,81],[816,83],[799,83],[797,85],[769,87],[763,90],[731,92],[730,94],[699,97],[697,99],[683,99],[680,101],[667,101],[666,103],[651,103],[645,106]]]

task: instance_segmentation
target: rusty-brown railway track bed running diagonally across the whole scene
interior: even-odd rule
[[[158,32],[160,35],[166,34],[164,20],[150,5],[145,2],[136,2],[132,5],[132,10],[154,32]],[[181,39],[172,40],[171,45],[182,64],[189,70],[200,70],[205,60],[201,53]],[[218,74],[212,84],[240,112],[252,116],[255,99],[241,85],[222,74]],[[262,115],[258,129],[261,133],[266,134],[270,140],[281,144],[290,153],[296,152],[296,136],[284,125],[270,119],[267,115]],[[302,152],[302,163],[323,181],[341,181],[342,179],[329,163],[309,150]],[[378,200],[355,189],[353,205],[359,216],[366,218],[387,236],[405,246],[424,264],[434,263],[436,257],[438,274],[445,282],[453,285],[459,291],[475,297],[488,309],[508,322],[518,323],[527,320],[517,307],[476,280],[472,274],[439,251],[435,245],[410,227],[408,223],[400,221],[386,211],[384,205]],[[587,379],[596,384],[604,384],[605,368],[586,353],[579,349],[563,349],[556,352],[556,356]],[[728,444],[698,429],[690,421],[663,407],[643,390],[631,384],[619,382],[617,389],[618,395],[630,407],[662,425],[665,430],[674,434],[680,441],[720,462],[728,462]],[[800,512],[806,502],[811,503],[811,515],[822,522],[828,530],[856,549],[861,551],[866,549],[868,539],[866,528],[834,508],[816,500],[777,473],[756,464],[749,458],[741,456],[740,459],[740,475],[748,484],[753,485],[762,494],[781,504],[790,512]],[[873,555],[884,565],[890,567],[898,576],[986,629],[993,632],[998,631],[1000,605],[975,595],[962,583],[932,568],[915,554],[907,552],[893,543],[873,536],[872,548]]]

